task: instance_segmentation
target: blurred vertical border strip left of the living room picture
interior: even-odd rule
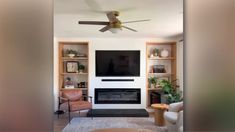
[[[53,0],[0,1],[0,131],[53,131]]]

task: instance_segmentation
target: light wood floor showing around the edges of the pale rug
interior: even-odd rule
[[[71,113],[71,119],[73,117],[85,117],[87,114],[87,111],[83,111],[83,112],[80,112],[80,115],[79,113],[75,113],[75,112],[72,112]],[[149,116],[150,117],[153,117],[153,113],[149,113]],[[62,115],[58,116],[57,115],[54,115],[54,132],[62,132],[62,130],[64,129],[64,127],[68,124],[68,113],[64,113]]]

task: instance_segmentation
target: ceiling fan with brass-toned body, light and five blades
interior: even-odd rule
[[[110,12],[107,12],[106,15],[107,15],[109,21],[78,21],[78,24],[105,25],[105,27],[103,27],[99,30],[100,32],[105,32],[105,31],[109,30],[112,33],[116,33],[117,30],[122,30],[122,28],[126,28],[128,30],[137,32],[137,30],[135,30],[135,29],[132,29],[132,28],[129,28],[127,26],[122,25],[124,23],[150,21],[150,19],[145,19],[145,20],[121,22],[119,19],[117,19],[117,16],[119,16],[118,11],[110,11]]]

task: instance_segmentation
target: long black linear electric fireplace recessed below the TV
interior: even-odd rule
[[[140,104],[140,88],[96,88],[95,104]]]

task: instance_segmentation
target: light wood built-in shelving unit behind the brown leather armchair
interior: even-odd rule
[[[67,50],[75,50],[79,54],[74,57],[69,57],[66,54]],[[58,48],[58,71],[59,71],[59,81],[58,89],[59,90],[82,90],[84,93],[89,93],[89,43],[88,42],[77,42],[77,41],[60,41]],[[80,55],[81,54],[81,55]],[[84,72],[80,73],[78,69],[73,70],[77,71],[74,73],[67,72],[67,65],[65,62],[74,61],[79,62],[79,65],[84,65]],[[68,77],[70,78],[68,80]],[[71,81],[74,84],[75,88],[65,88],[66,81]],[[85,82],[86,87],[81,87],[80,82]]]

